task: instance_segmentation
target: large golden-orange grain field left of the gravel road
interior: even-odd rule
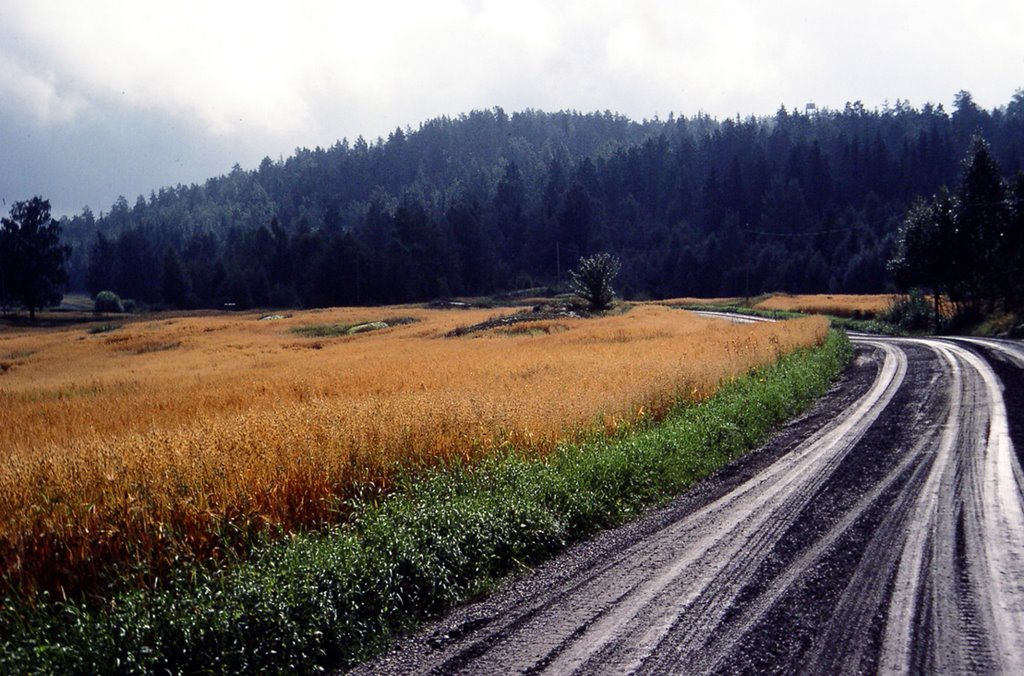
[[[400,467],[504,445],[544,454],[659,416],[827,329],[639,306],[442,338],[494,314],[343,308],[3,330],[0,569],[17,586],[88,588],[112,564],[153,574],[221,556],[268,527],[336,521],[354,487],[386,489]],[[292,331],[388,315],[419,322]]]

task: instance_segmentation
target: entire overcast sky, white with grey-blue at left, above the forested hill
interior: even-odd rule
[[[0,199],[56,214],[501,105],[634,119],[1024,87],[1022,0],[0,0]]]

